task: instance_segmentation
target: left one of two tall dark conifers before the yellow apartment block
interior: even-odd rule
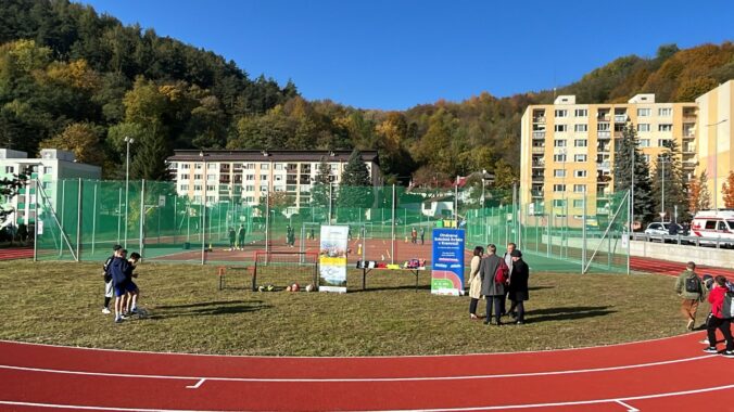
[[[629,123],[622,131],[622,138],[615,143],[615,192],[624,193],[630,190],[631,176],[634,175],[634,218],[643,222],[651,221],[655,214],[649,164],[640,150],[634,125]],[[632,170],[633,158],[634,170]]]

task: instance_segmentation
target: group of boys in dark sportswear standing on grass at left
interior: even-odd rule
[[[121,245],[113,246],[113,254],[102,266],[104,276],[104,306],[102,313],[110,313],[110,301],[115,296],[115,323],[138,313],[140,289],[132,281],[138,278],[135,268],[140,254],[134,252],[127,257],[127,250]]]

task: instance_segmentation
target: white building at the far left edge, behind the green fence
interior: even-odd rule
[[[0,179],[13,178],[18,173],[25,173],[33,181],[38,181],[43,193],[55,208],[58,196],[54,191],[55,182],[61,179],[100,179],[102,169],[99,166],[87,165],[76,162],[73,152],[43,149],[40,157],[28,158],[25,152],[0,149]],[[18,195],[11,198],[0,199],[3,207],[12,207],[13,213],[0,226],[13,223],[27,224],[36,220],[34,210],[35,189],[22,188]],[[43,202],[39,199],[39,207],[43,208]]]

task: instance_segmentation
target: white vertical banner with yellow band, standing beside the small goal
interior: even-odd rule
[[[346,248],[349,244],[346,226],[321,226],[318,248],[318,271],[320,292],[346,293]]]

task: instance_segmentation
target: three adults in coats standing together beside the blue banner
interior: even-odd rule
[[[530,268],[522,260],[522,253],[515,243],[507,244],[503,257],[497,256],[493,244],[474,247],[469,272],[469,317],[478,320],[477,306],[482,296],[486,299],[484,324],[503,325],[502,318],[509,316],[514,323],[524,323],[524,301],[530,298],[528,280]],[[511,305],[506,310],[507,299]],[[492,313],[494,310],[494,322]]]

